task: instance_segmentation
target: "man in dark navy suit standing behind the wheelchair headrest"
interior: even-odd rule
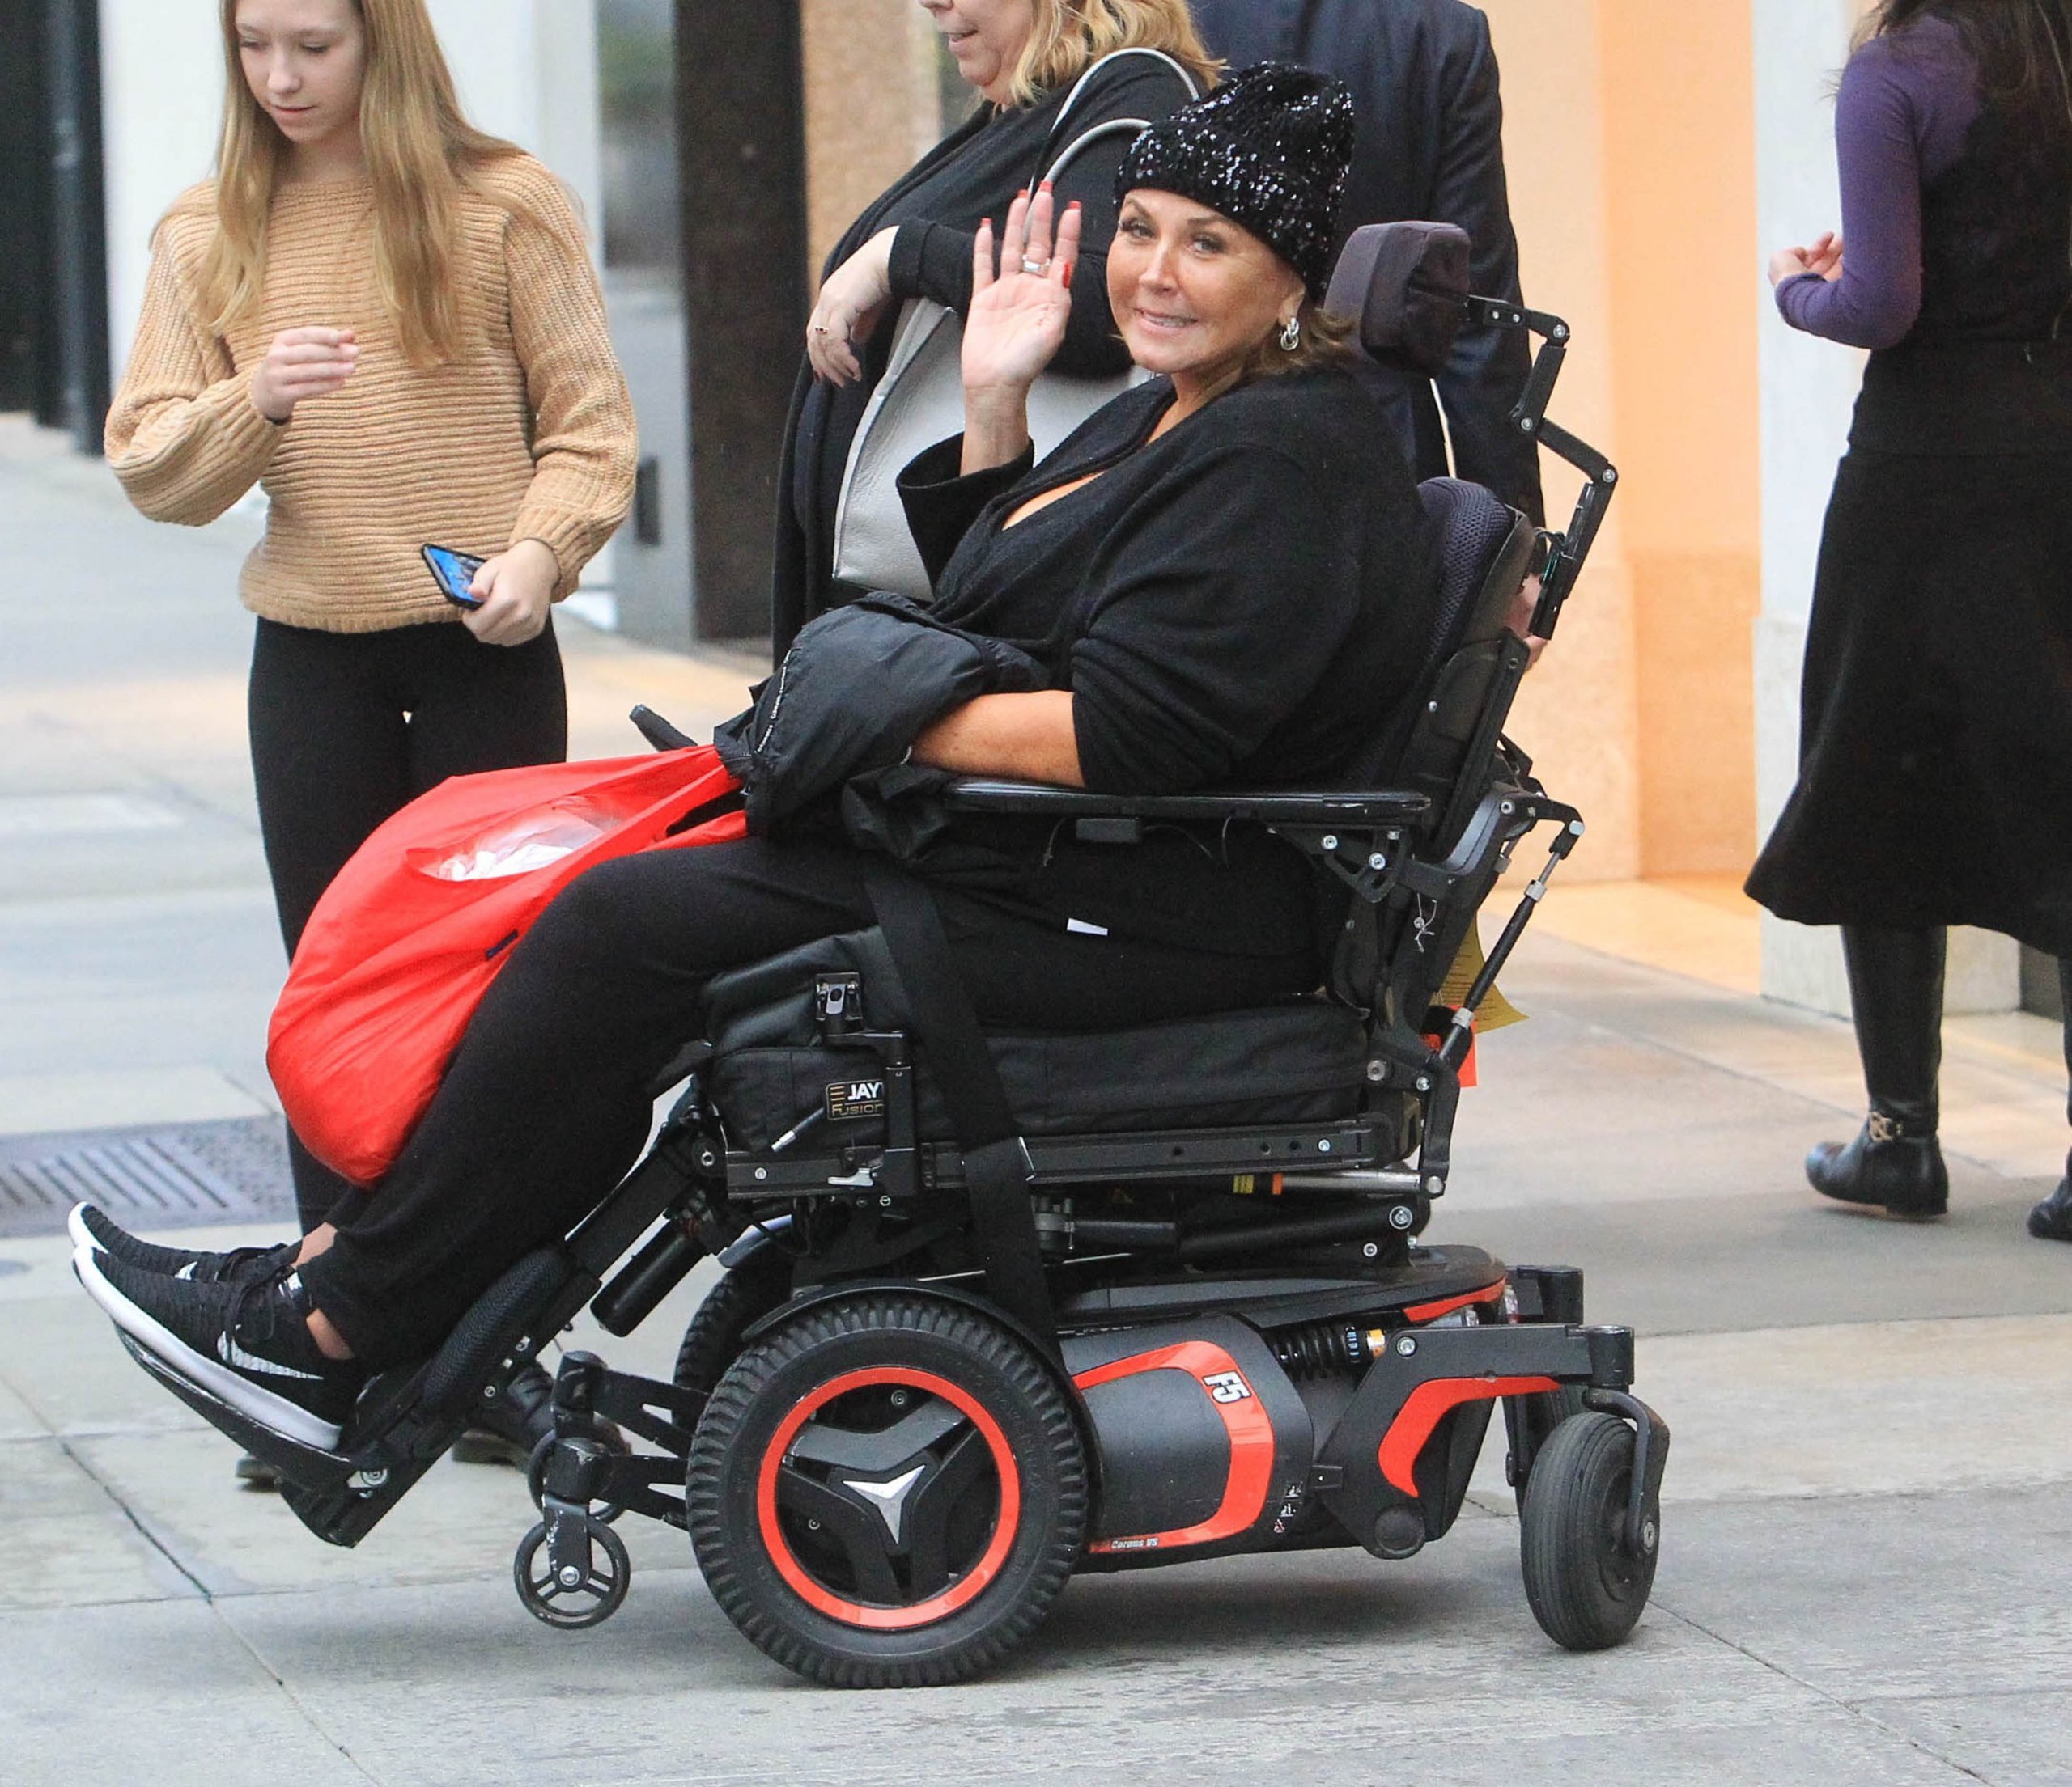
[[[1475,244],[1473,290],[1523,302],[1504,184],[1504,106],[1490,21],[1463,0],[1191,0],[1210,50],[1233,68],[1301,62],[1336,75],[1359,108],[1343,224],[1459,224]],[[1432,383],[1403,373],[1384,400],[1419,478],[1452,470],[1546,520],[1537,447],[1510,422],[1525,389],[1523,335],[1473,329]]]

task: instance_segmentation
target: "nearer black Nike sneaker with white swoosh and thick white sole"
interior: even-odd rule
[[[269,1284],[197,1284],[139,1271],[91,1247],[73,1255],[73,1269],[116,1327],[191,1383],[300,1445],[338,1445],[367,1371],[325,1358],[311,1340],[300,1273]]]

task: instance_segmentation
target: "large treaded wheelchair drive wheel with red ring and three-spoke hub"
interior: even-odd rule
[[[908,1487],[872,1501],[858,1478]],[[860,1292],[733,1360],[686,1505],[713,1599],[765,1654],[827,1688],[939,1688],[1048,1613],[1086,1536],[1088,1472],[1028,1344],[953,1302]]]

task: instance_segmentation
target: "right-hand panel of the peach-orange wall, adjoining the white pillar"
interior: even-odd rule
[[[1600,17],[1641,872],[1738,876],[1761,607],[1753,23],[1726,0]]]

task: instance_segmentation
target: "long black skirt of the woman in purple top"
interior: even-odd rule
[[[1968,924],[2066,957],[2072,441],[1908,429],[1879,383],[1828,507],[1798,787],[1749,892],[1798,924]],[[1944,449],[1890,449],[1908,439]],[[2047,449],[1981,451],[2028,439]]]

